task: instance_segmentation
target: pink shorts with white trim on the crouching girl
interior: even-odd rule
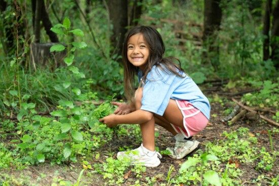
[[[175,129],[178,133],[182,133],[186,138],[189,138],[202,131],[206,127],[208,119],[190,102],[186,100],[176,101],[183,115],[184,128],[171,124],[173,129]]]

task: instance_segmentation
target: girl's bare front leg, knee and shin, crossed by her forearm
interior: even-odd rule
[[[135,109],[142,106],[143,88],[138,88],[135,92]],[[143,146],[149,151],[155,151],[155,118],[140,124],[143,136]]]

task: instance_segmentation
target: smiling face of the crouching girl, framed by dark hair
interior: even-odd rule
[[[145,69],[149,57],[149,48],[142,33],[130,36],[127,42],[127,57],[132,65],[140,67],[141,70]]]

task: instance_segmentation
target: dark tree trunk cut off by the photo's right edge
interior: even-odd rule
[[[273,9],[271,29],[271,60],[276,69],[279,69],[279,1]]]

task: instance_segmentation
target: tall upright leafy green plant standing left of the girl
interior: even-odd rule
[[[63,24],[57,24],[51,30],[57,34],[64,35],[66,37],[66,47],[61,44],[53,45],[50,48],[50,52],[60,52],[67,50],[67,57],[64,58],[64,62],[67,65],[68,81],[64,82],[61,88],[68,90],[69,100],[59,100],[60,108],[58,110],[52,111],[50,113],[52,116],[59,117],[61,121],[61,133],[68,133],[70,141],[65,144],[63,150],[63,156],[65,159],[72,155],[72,137],[76,142],[83,141],[82,133],[79,131],[79,127],[75,125],[77,121],[80,120],[79,116],[82,114],[82,109],[76,107],[72,101],[72,92],[76,95],[81,94],[81,90],[77,87],[72,87],[72,76],[76,78],[85,78],[84,73],[79,71],[79,68],[72,65],[74,62],[74,52],[77,48],[85,49],[87,47],[84,42],[69,42],[69,34],[73,33],[75,35],[83,36],[84,33],[81,29],[70,30],[71,21],[68,18],[63,20]],[[64,108],[64,109],[63,109]],[[74,116],[72,116],[74,115]]]

